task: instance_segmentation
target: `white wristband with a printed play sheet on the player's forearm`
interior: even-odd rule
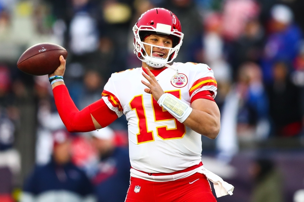
[[[192,112],[192,108],[190,106],[169,93],[164,93],[158,99],[157,103],[159,106],[164,107],[181,123],[183,123]]]

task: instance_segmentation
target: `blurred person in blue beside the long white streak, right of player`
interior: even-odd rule
[[[238,134],[267,138],[270,132],[269,101],[260,66],[247,62],[240,67],[237,91],[240,93]]]

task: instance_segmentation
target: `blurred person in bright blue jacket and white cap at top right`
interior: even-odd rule
[[[271,9],[271,22],[265,48],[262,68],[265,82],[273,79],[272,67],[278,60],[292,64],[299,52],[302,32],[293,23],[292,10],[286,5],[275,5]]]

